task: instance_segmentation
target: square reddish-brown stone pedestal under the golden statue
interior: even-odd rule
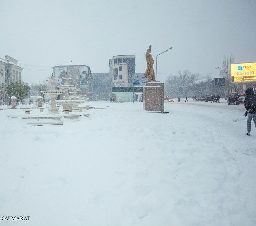
[[[148,82],[143,86],[143,109],[164,111],[164,84]]]

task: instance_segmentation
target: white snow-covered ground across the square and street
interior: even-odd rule
[[[61,126],[0,110],[0,218],[31,216],[0,225],[256,225],[244,106],[181,101],[165,102],[169,114],[90,102],[105,109]]]

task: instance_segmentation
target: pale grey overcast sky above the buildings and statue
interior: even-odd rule
[[[230,53],[235,63],[256,62],[255,0],[2,0],[0,5],[0,57],[18,60],[29,83],[71,60],[92,72],[109,72],[115,55],[135,55],[136,72],[145,72],[149,45],[154,59],[173,47],[157,57],[161,82],[178,70],[218,76],[215,67]]]

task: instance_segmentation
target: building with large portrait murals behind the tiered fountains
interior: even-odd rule
[[[71,61],[53,67],[54,78],[58,79],[58,85],[64,85],[62,77],[67,73],[69,85],[75,85],[78,93],[95,100],[94,79],[89,66]]]

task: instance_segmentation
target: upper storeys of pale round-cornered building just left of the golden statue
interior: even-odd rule
[[[109,60],[112,87],[131,87],[132,73],[135,73],[135,55],[113,56]]]

